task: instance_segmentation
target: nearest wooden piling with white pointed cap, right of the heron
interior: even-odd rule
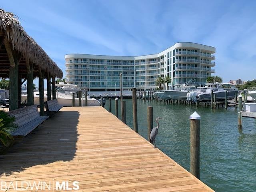
[[[190,117],[190,173],[200,179],[200,116]]]

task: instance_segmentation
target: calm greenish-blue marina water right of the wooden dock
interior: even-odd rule
[[[190,170],[190,120],[198,112],[200,124],[200,179],[216,192],[256,191],[256,120],[243,118],[238,130],[237,110],[196,108],[137,100],[138,132],[147,138],[147,106],[161,117],[156,146]],[[108,100],[105,108],[108,110]],[[115,114],[114,100],[112,113]],[[119,118],[120,100],[119,100]],[[133,128],[132,100],[126,100],[127,124]],[[154,124],[154,126],[156,126]]]

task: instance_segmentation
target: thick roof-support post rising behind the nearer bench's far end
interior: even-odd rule
[[[26,60],[26,70],[27,70],[27,104],[28,106],[34,105],[34,83],[33,83],[33,64]]]

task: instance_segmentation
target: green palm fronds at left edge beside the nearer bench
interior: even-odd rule
[[[4,146],[8,146],[13,140],[10,132],[15,128],[18,128],[18,125],[14,123],[15,118],[9,116],[7,112],[0,111],[0,141]]]

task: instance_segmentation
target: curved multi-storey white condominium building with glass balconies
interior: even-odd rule
[[[172,79],[169,88],[189,80],[200,85],[215,72],[214,53],[215,48],[211,46],[178,42],[158,54],[143,56],[67,54],[66,82],[85,86],[90,91],[113,91],[120,88],[122,73],[124,89],[154,90],[156,78],[165,76]]]

